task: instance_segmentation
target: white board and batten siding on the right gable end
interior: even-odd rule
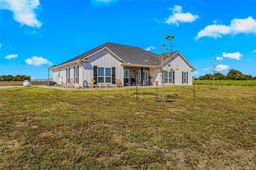
[[[165,83],[165,85],[192,85],[192,70],[188,63],[180,57],[180,55],[177,53],[173,56],[174,59],[170,62],[171,66],[168,67],[168,62],[164,63],[164,70],[170,71],[171,68],[174,70],[174,84],[172,83]],[[178,70],[176,70],[178,68]],[[182,72],[188,72],[188,83],[182,84]],[[156,77],[156,80],[158,81],[158,85],[162,85],[162,76],[160,73],[160,69],[158,70],[158,76]]]

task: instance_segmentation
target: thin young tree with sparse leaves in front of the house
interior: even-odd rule
[[[160,54],[156,55],[156,60],[161,62],[161,73],[162,73],[162,100],[164,100],[164,77],[165,77],[165,71],[167,71],[167,69],[164,70],[164,62],[167,61],[168,59],[174,59],[173,58],[173,54],[171,53],[173,50],[173,46],[172,46],[172,39],[174,39],[173,35],[166,35],[165,39],[166,41],[168,41],[168,43],[170,44],[170,46],[168,47],[168,45],[165,44],[164,40],[162,39],[161,42],[159,43],[160,45]],[[164,53],[164,51],[166,51],[167,53]],[[145,62],[147,63],[148,60],[145,60]],[[157,64],[157,62],[155,62],[155,64]],[[167,64],[168,68],[170,68],[171,63]],[[178,70],[178,68],[176,68]],[[169,69],[170,71],[173,71],[173,68]]]

